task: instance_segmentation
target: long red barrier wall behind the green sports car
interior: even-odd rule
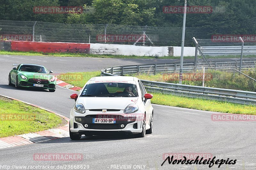
[[[84,43],[65,43],[65,42],[31,42],[31,41],[12,41],[12,51],[36,51],[43,53],[89,53],[90,44]]]

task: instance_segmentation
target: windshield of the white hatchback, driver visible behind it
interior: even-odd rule
[[[92,83],[85,86],[82,97],[138,97],[135,84],[130,83]]]

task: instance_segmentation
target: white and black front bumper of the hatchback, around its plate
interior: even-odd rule
[[[140,114],[124,114],[123,110],[107,114],[86,110],[86,113],[79,114],[72,108],[70,113],[70,131],[77,134],[97,134],[98,132],[126,132],[137,134],[142,132],[140,116]],[[93,118],[113,118],[116,120],[116,123],[92,123]],[[85,128],[85,124],[87,124],[88,127]],[[123,128],[121,128],[122,124],[124,125]]]

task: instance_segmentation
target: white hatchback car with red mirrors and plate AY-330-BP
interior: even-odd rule
[[[79,95],[70,112],[69,135],[78,140],[108,132],[125,132],[144,137],[153,132],[153,95],[136,77],[93,77]]]

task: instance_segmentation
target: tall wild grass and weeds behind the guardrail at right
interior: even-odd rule
[[[256,79],[256,69],[243,70],[244,74]],[[179,73],[164,73],[164,74],[139,74],[133,75],[139,79],[167,82],[167,83],[179,83]],[[197,71],[196,73],[183,73],[182,84],[184,85],[203,85],[203,73]],[[250,78],[245,77],[244,75],[238,72],[228,72],[226,70],[205,70],[205,87],[215,87],[215,88],[224,88],[224,89],[234,89],[234,90],[244,90],[244,91],[256,91],[256,82]]]

